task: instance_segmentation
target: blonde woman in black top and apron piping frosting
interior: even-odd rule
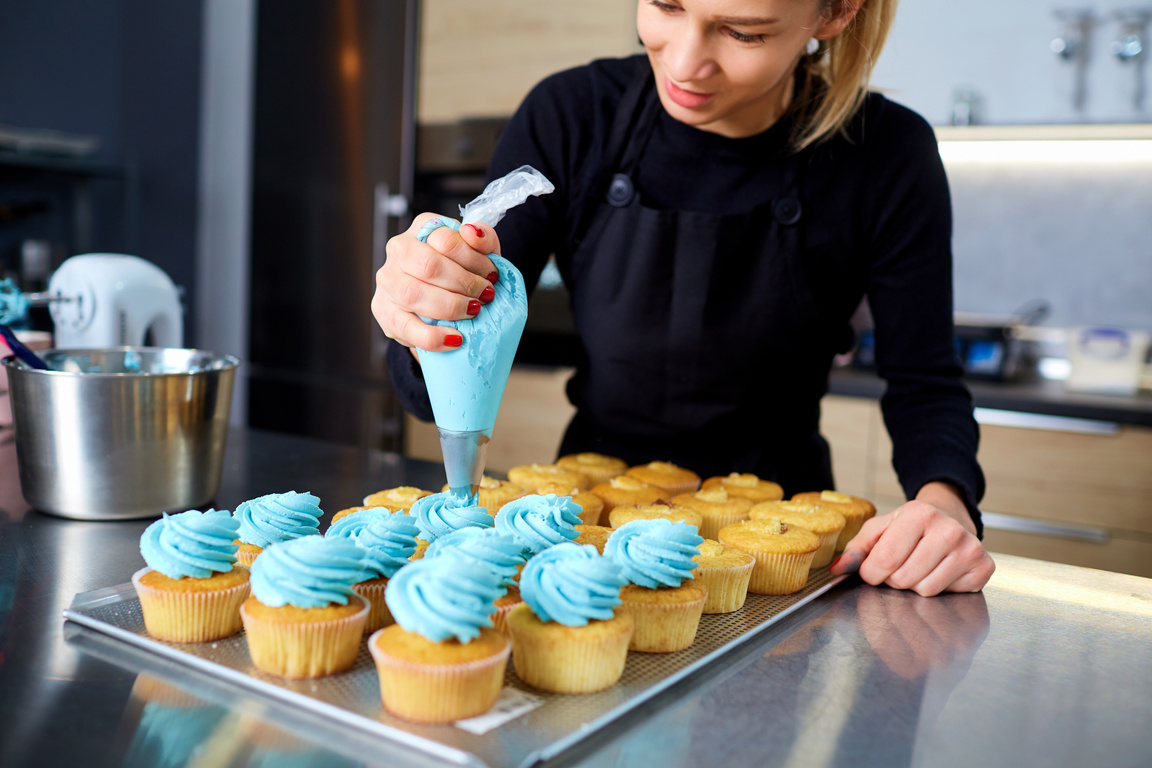
[[[647,55],[540,83],[490,175],[529,164],[556,191],[486,226],[418,216],[388,243],[373,313],[406,347],[444,351],[416,315],[483,311],[500,252],[529,287],[550,253],[584,359],[561,453],[755,472],[831,488],[818,432],[832,357],[867,296],[893,463],[911,500],[870,520],[836,572],[922,594],[976,591],[978,433],[952,336],[950,203],[931,128],[866,93],[895,0],[639,0]],[[430,418],[400,345],[389,367]]]

